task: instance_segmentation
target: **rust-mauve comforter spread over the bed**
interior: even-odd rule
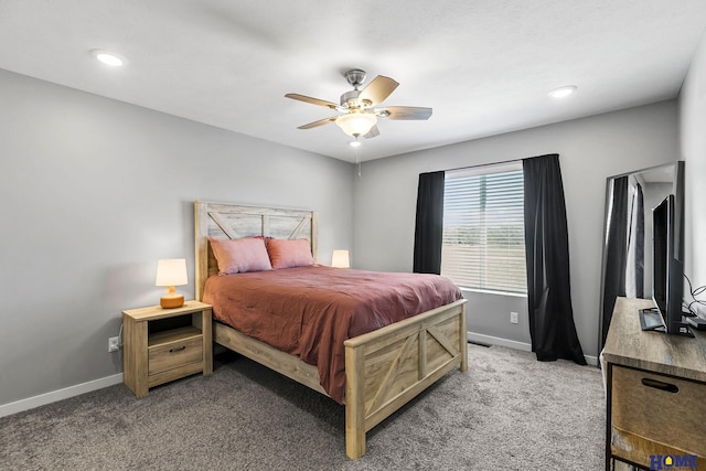
[[[226,276],[206,281],[214,319],[317,365],[336,402],[345,390],[343,341],[461,299],[448,278],[323,266]]]

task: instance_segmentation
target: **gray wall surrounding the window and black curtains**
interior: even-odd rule
[[[675,100],[365,162],[353,206],[356,268],[411,270],[421,172],[560,154],[574,318],[584,353],[597,355],[606,179],[678,158]],[[434,119],[434,118],[432,118]],[[511,301],[512,302],[512,301]],[[511,304],[523,308],[520,302]],[[510,324],[506,299],[469,302],[477,333],[528,342],[526,302]]]

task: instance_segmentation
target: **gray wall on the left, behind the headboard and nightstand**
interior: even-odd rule
[[[115,375],[124,309],[188,258],[193,201],[319,211],[352,246],[353,165],[0,71],[0,405]]]

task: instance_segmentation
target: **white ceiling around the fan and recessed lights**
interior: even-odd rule
[[[434,115],[381,121],[377,159],[674,98],[705,26],[705,0],[0,0],[0,68],[354,161],[335,125],[297,129],[335,111],[284,95],[395,78],[385,105]]]

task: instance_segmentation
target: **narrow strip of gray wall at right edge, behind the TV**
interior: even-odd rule
[[[686,162],[684,271],[697,287],[706,285],[706,35],[680,94],[680,130],[682,158]],[[703,315],[706,318],[706,312]]]

